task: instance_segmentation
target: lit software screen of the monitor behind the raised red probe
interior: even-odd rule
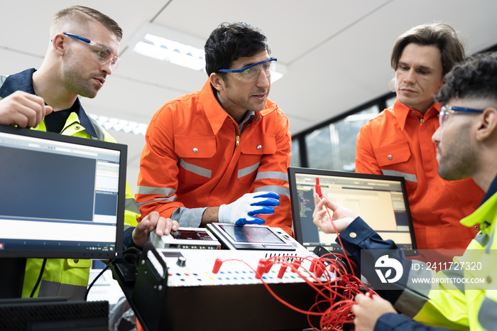
[[[413,249],[400,181],[295,173],[298,215],[294,208],[294,218],[302,230],[302,238],[297,239],[308,249],[318,245],[331,251],[340,249],[336,234],[325,234],[312,222],[316,178],[324,196],[361,216],[383,239],[392,239],[402,249]]]

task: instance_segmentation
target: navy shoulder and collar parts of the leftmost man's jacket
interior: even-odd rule
[[[34,68],[31,68],[7,77],[4,85],[0,87],[0,97],[8,97],[16,91],[35,94],[35,89],[33,87],[33,73],[35,71]],[[72,104],[70,109],[77,114],[77,117],[80,119],[80,124],[84,127],[84,131],[90,136],[97,138],[97,132],[92,125],[92,121],[90,121],[87,113],[84,112],[84,109],[80,104],[80,98],[76,98],[75,103]]]

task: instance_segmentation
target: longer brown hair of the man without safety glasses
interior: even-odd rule
[[[442,75],[449,72],[456,63],[464,60],[464,43],[457,31],[445,23],[432,23],[415,26],[400,35],[392,49],[391,65],[397,70],[400,55],[410,43],[436,46],[441,54]]]

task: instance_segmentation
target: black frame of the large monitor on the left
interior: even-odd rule
[[[117,197],[117,226],[116,242],[114,251],[75,251],[72,249],[53,248],[43,251],[35,249],[0,249],[0,258],[39,258],[39,259],[121,259],[123,251],[123,231],[124,231],[124,209],[126,204],[126,165],[128,146],[120,143],[99,141],[95,139],[84,139],[75,136],[63,136],[53,132],[22,129],[13,126],[0,125],[0,132],[4,134],[15,134],[18,136],[28,136],[49,141],[60,141],[64,143],[74,143],[77,145],[104,148],[119,151],[119,188]],[[1,222],[1,220],[0,220]],[[21,231],[21,229],[19,230]]]

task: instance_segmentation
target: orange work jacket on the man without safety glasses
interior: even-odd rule
[[[471,178],[447,181],[438,175],[432,135],[439,127],[439,104],[423,115],[395,101],[359,131],[356,172],[405,178],[418,249],[466,249],[478,228],[459,220],[484,197]]]

